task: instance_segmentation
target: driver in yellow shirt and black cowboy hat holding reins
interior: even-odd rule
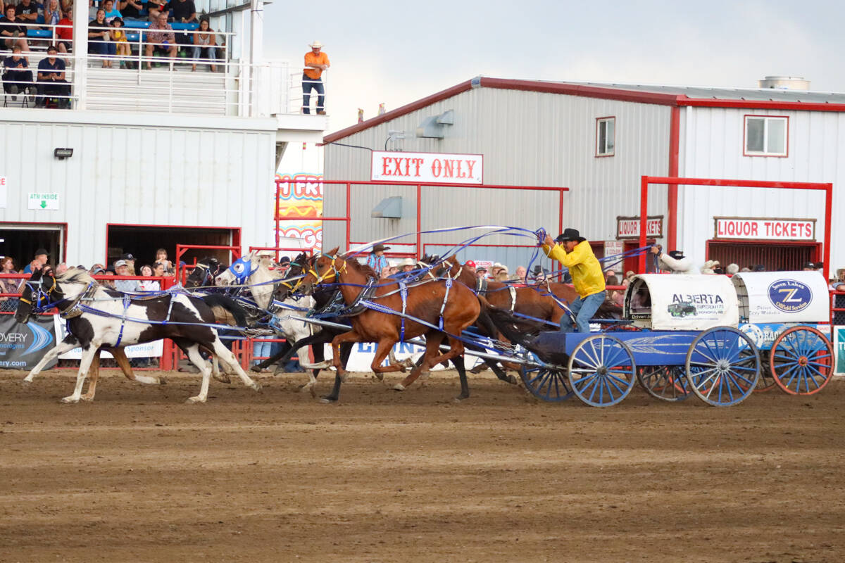
[[[559,244],[555,244],[558,242]],[[564,229],[556,239],[546,235],[542,252],[570,268],[572,284],[579,297],[572,301],[570,310],[575,315],[575,327],[569,316],[560,320],[560,332],[590,332],[590,319],[604,302],[604,273],[590,243],[575,229]]]

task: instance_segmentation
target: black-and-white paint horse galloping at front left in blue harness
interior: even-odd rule
[[[82,360],[76,376],[74,393],[63,398],[64,403],[76,403],[82,398],[82,387],[92,361],[99,349],[122,349],[130,344],[152,342],[171,338],[188,355],[203,375],[199,394],[188,398],[188,403],[204,403],[208,398],[211,367],[199,354],[200,349],[215,355],[223,365],[240,376],[244,385],[258,391],[254,382],[240,365],[235,355],[221,343],[213,325],[220,314],[213,308],[223,308],[234,317],[243,318],[243,311],[232,300],[221,295],[203,298],[185,294],[164,294],[146,299],[135,299],[120,292],[106,290],[79,268],[69,269],[57,278],[36,271],[26,282],[23,295],[15,312],[15,320],[27,322],[35,308],[55,306],[68,317],[68,333],[82,347]],[[76,343],[65,338],[57,346],[57,355],[73,349]],[[93,374],[92,374],[93,375]],[[135,376],[137,380],[139,376]],[[157,383],[155,378],[145,378]],[[30,380],[31,381],[31,380]],[[93,393],[89,399],[93,398]]]

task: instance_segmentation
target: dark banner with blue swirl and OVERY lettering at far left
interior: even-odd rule
[[[56,346],[53,328],[55,315],[31,317],[20,324],[14,315],[0,315],[0,368],[4,370],[31,370],[41,358]],[[57,361],[46,365],[51,368]]]

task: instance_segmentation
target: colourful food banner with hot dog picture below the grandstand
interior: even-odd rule
[[[292,237],[304,242],[308,248],[323,247],[323,221],[302,219],[323,216],[323,175],[299,172],[276,174],[281,183],[276,215],[279,219],[280,238]]]

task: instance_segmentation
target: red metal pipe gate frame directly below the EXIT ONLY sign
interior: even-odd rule
[[[282,221],[344,221],[346,223],[346,248],[350,248],[351,231],[352,231],[352,205],[351,195],[352,186],[397,186],[403,187],[417,187],[417,258],[421,256],[420,252],[423,250],[423,235],[420,231],[423,230],[423,218],[420,213],[423,203],[423,187],[469,187],[477,189],[493,189],[493,190],[528,190],[532,192],[558,192],[558,232],[564,230],[564,192],[569,192],[568,187],[550,187],[550,186],[499,186],[499,185],[474,185],[474,184],[439,184],[432,183],[401,183],[397,184],[395,181],[347,181],[347,180],[320,180],[323,184],[339,184],[346,186],[346,215],[344,217],[280,217],[279,216],[279,197],[281,195],[281,185],[284,183],[291,183],[297,180],[293,178],[277,178],[275,181],[275,246],[279,246],[279,225]],[[448,244],[448,243],[444,243]]]

